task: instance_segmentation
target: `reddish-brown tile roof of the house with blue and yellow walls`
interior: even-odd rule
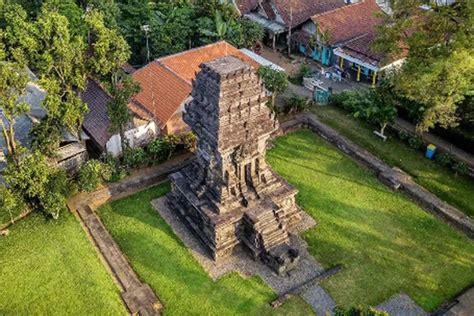
[[[328,44],[336,45],[373,33],[382,22],[382,17],[376,14],[382,12],[375,0],[365,0],[315,15],[313,21],[321,32],[329,32]]]

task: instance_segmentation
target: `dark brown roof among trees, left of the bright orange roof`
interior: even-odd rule
[[[87,82],[87,87],[81,93],[81,99],[89,106],[89,112],[84,117],[83,128],[86,133],[96,142],[101,149],[110,138],[109,116],[107,114],[107,104],[112,97],[94,80]]]

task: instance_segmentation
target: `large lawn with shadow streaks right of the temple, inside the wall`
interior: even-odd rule
[[[318,226],[304,237],[341,305],[376,305],[401,291],[427,311],[474,285],[474,243],[310,131],[274,141],[270,165],[299,189]],[[472,195],[469,197],[472,202]]]

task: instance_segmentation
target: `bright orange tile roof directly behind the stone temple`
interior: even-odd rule
[[[164,126],[190,95],[191,83],[200,71],[199,66],[225,56],[235,56],[252,67],[259,67],[256,61],[226,42],[163,57],[133,74],[142,90],[129,105],[130,110],[139,115],[140,108],[145,109]]]

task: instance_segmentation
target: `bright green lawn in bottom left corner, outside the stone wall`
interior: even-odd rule
[[[0,237],[0,315],[125,315],[77,219],[31,214]]]

